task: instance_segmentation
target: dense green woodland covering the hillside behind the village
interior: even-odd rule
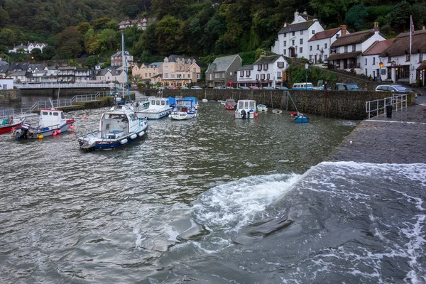
[[[0,0],[0,57],[28,60],[8,50],[30,41],[49,45],[43,54],[33,50],[35,60],[85,57],[92,66],[121,49],[120,21],[156,17],[146,31],[124,32],[135,60],[173,53],[211,62],[217,55],[270,50],[296,9],[320,18],[324,28],[346,23],[359,31],[378,21],[390,37],[408,30],[411,14],[415,29],[426,23],[423,0]]]

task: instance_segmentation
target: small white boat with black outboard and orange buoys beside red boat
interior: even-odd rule
[[[31,127],[29,123],[23,123],[21,128],[12,131],[12,137],[16,140],[42,139],[46,136],[56,136],[73,129],[74,119],[67,119],[60,109],[42,109],[38,119],[38,125]]]

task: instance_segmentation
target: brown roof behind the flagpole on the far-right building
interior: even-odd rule
[[[412,37],[411,53],[426,53],[426,30],[415,31]],[[393,43],[383,50],[382,57],[410,54],[410,33],[400,33]]]

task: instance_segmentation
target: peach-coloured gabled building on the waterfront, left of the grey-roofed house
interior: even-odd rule
[[[161,67],[163,69],[162,84],[164,87],[183,87],[186,84],[197,82],[201,76],[201,68],[194,58],[170,55],[164,58]]]

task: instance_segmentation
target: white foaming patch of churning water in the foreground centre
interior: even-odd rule
[[[302,175],[258,175],[218,185],[200,196],[194,206],[198,223],[238,230],[251,224],[256,214],[280,200]]]

